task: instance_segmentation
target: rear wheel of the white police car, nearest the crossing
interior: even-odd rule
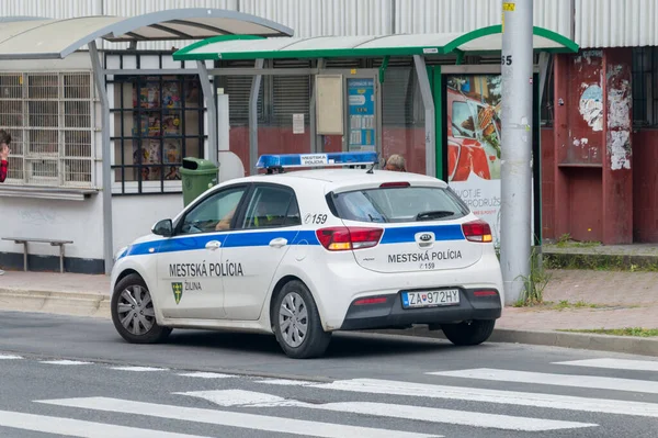
[[[322,356],[331,340],[331,333],[322,328],[310,291],[299,280],[288,281],[276,295],[272,326],[279,345],[294,359]]]

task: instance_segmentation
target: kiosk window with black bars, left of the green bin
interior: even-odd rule
[[[107,83],[114,192],[180,192],[182,159],[203,158],[207,138],[198,76],[114,76]]]

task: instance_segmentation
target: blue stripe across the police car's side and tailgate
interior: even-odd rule
[[[464,233],[461,225],[426,225],[426,226],[408,226],[408,227],[392,227],[385,228],[382,236],[382,245],[405,244],[416,242],[418,233],[434,233],[434,239],[441,240],[462,240]],[[127,256],[143,256],[147,254],[162,252],[182,252],[195,249],[203,249],[211,240],[218,240],[222,248],[240,248],[240,247],[258,247],[268,246],[274,238],[283,237],[288,240],[288,245],[320,245],[315,231],[283,231],[276,229],[271,232],[234,232],[194,235],[185,237],[174,237],[144,242],[128,247],[128,249],[118,258]],[[152,251],[151,251],[152,249]]]

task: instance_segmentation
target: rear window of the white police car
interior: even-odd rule
[[[330,193],[328,200],[338,217],[359,222],[452,221],[469,212],[452,190],[434,187],[355,190]]]

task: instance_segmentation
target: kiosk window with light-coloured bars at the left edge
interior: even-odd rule
[[[0,74],[7,184],[95,188],[92,87],[89,71]]]

